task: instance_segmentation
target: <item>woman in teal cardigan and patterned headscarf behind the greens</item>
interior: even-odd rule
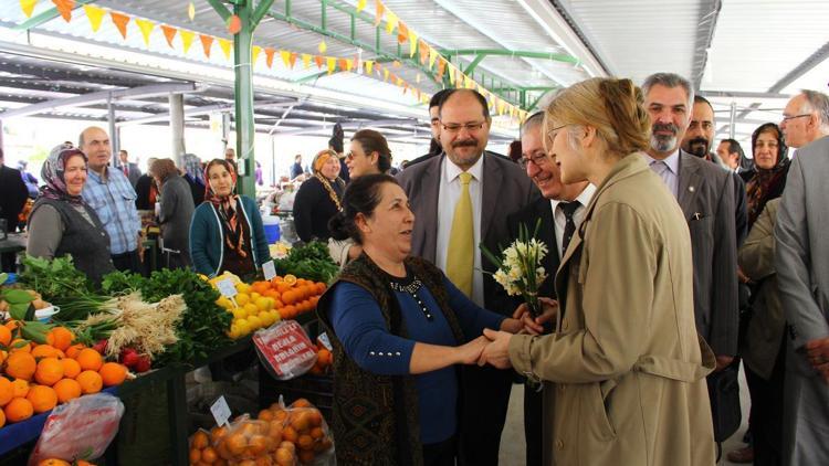
[[[204,179],[204,202],[190,224],[193,268],[210,277],[224,271],[250,277],[271,260],[256,202],[235,193],[237,172],[228,160],[211,160]]]

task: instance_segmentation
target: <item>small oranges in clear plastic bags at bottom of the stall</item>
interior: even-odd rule
[[[274,403],[256,419],[237,417],[229,426],[199,431],[190,438],[190,464],[324,465],[334,442],[319,410],[306,400]]]

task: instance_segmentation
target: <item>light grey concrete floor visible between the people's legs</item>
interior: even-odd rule
[[[723,443],[723,458],[717,463],[720,466],[734,465],[725,459],[727,452],[745,446],[743,435],[748,426],[748,385],[745,382],[744,372],[739,371],[739,401],[743,409],[743,423],[739,430],[731,438]],[[501,435],[501,451],[499,464],[502,466],[526,466],[524,438],[524,385],[513,385],[510,396],[510,409],[506,414],[506,425]]]

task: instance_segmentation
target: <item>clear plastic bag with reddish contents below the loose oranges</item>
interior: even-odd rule
[[[52,411],[29,465],[48,458],[101,457],[118,433],[124,403],[108,393],[84,395]]]

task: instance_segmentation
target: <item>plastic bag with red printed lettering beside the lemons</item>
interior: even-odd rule
[[[262,364],[277,380],[300,377],[316,363],[316,347],[296,320],[258,330],[253,342]]]

